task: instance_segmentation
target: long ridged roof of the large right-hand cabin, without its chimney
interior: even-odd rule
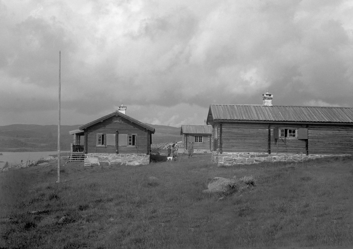
[[[353,123],[353,108],[319,106],[210,105],[213,120]]]

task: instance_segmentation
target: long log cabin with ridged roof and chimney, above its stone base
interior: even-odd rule
[[[212,150],[218,153],[353,154],[353,108],[210,105]]]

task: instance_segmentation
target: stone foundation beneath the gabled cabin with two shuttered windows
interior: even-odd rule
[[[146,165],[150,163],[150,155],[146,154],[103,154],[88,153],[85,156],[85,166],[104,165]]]

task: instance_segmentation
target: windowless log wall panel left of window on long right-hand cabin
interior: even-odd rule
[[[222,123],[222,152],[268,152],[268,124]]]

